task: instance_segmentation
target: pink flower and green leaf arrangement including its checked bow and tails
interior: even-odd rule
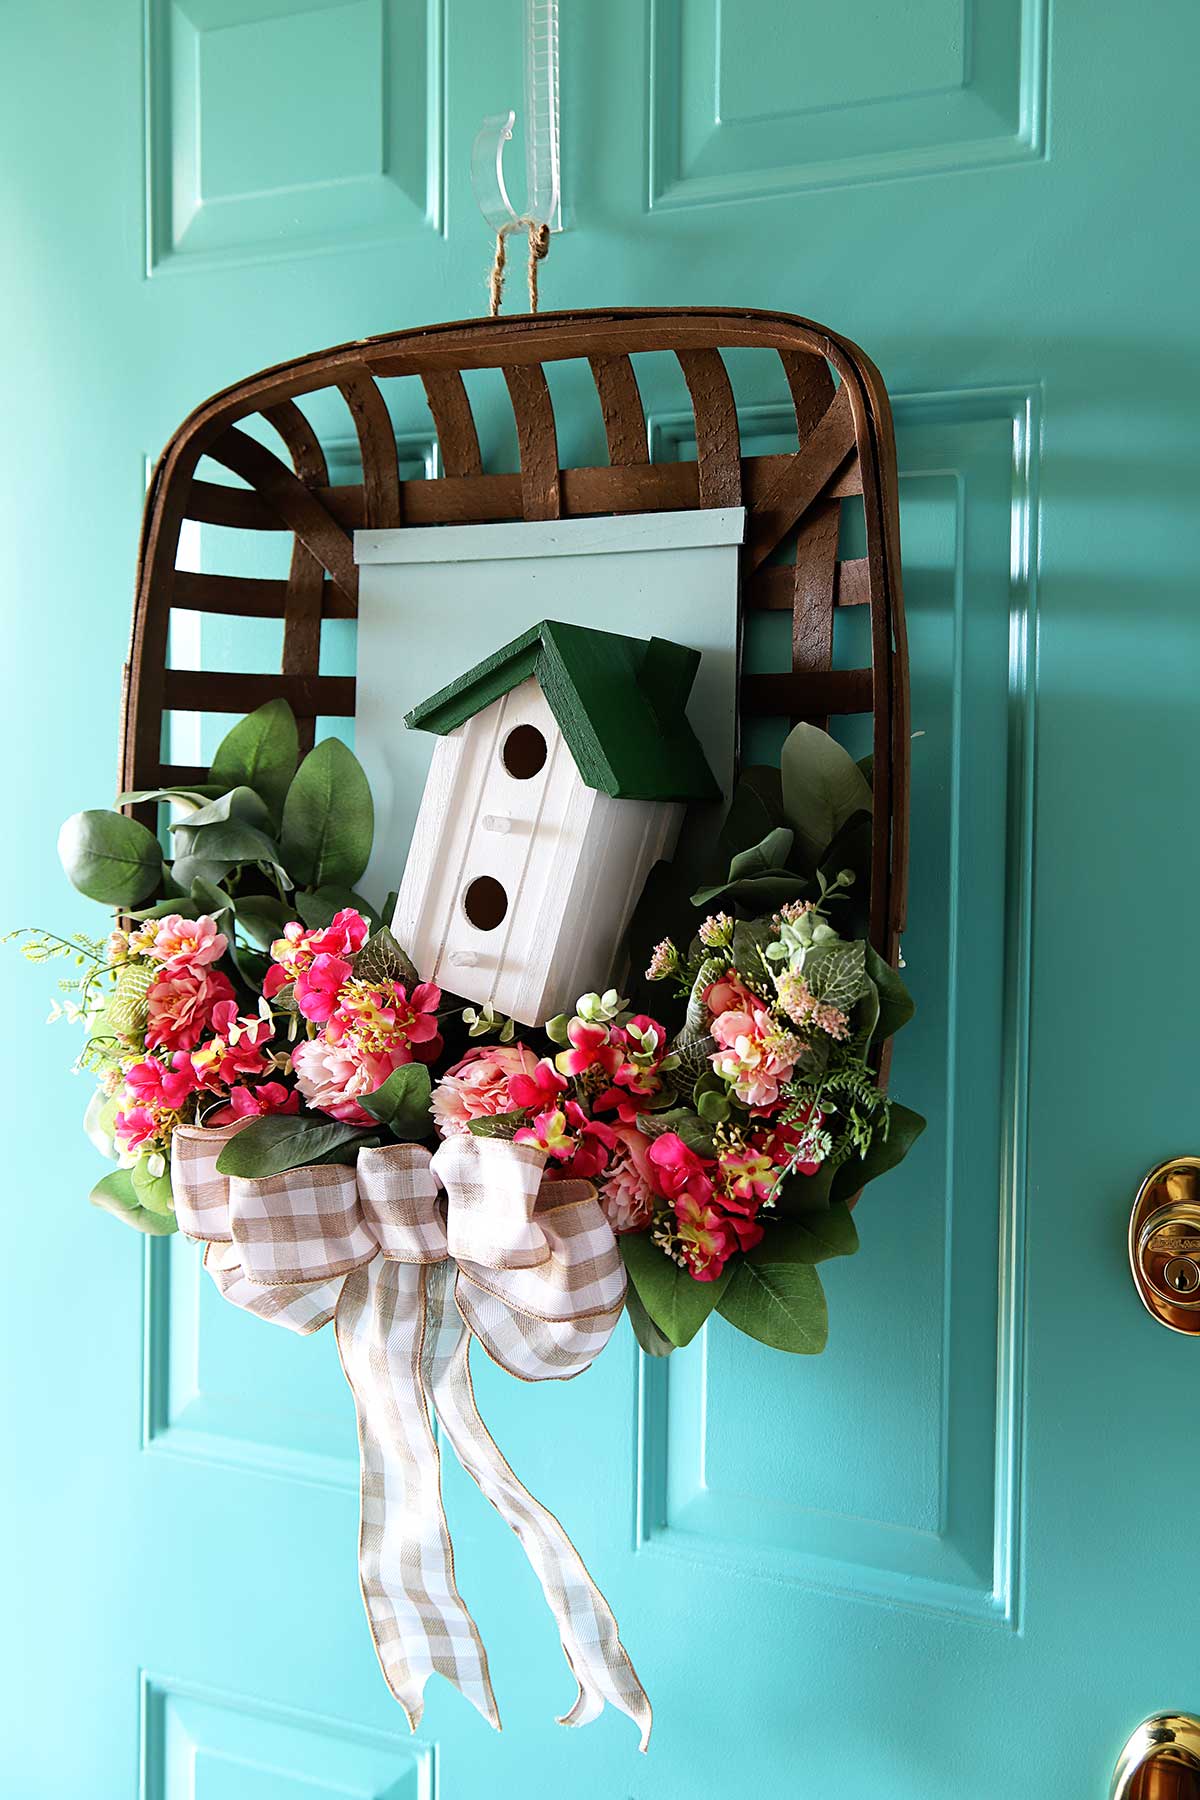
[[[77,1066],[97,1078],[85,1125],[117,1166],[94,1204],[201,1240],[236,1305],[299,1332],[336,1319],[363,1517],[371,1494],[417,1496],[360,1546],[414,1728],[432,1670],[498,1724],[453,1580],[435,1411],[554,1609],[579,1683],[563,1723],[608,1701],[644,1748],[615,1620],[479,1418],[468,1350],[565,1379],[622,1310],[651,1355],[712,1310],[774,1348],[824,1348],[817,1264],[858,1247],[855,1197],[923,1129],[880,1087],[912,1003],[867,941],[869,765],[795,727],[779,770],[741,776],[723,877],[689,895],[685,859],[653,871],[633,999],[585,994],[536,1033],[421,979],[394,896],[376,911],[354,891],[365,774],[333,738],[300,760],[284,700],[234,725],[207,783],[117,806],[151,801],[176,812],[169,855],[119,810],[59,835],[74,886],[119,913],[108,936],[14,934],[34,961],[76,963],[50,1017],[83,1026]],[[398,1561],[419,1579],[396,1580]]]

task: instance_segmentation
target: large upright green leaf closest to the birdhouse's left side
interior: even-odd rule
[[[374,806],[362,765],[326,738],[295,772],[282,808],[282,860],[300,887],[353,887],[371,857]]]

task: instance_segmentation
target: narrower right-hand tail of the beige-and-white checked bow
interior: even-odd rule
[[[646,1750],[651,1706],[612,1607],[560,1521],[516,1478],[480,1418],[470,1366],[471,1330],[455,1303],[450,1264],[428,1271],[426,1305],[423,1386],[434,1393],[437,1418],[455,1456],[529,1557],[579,1687],[576,1703],[558,1723],[588,1724],[608,1703],[637,1724],[640,1750]]]

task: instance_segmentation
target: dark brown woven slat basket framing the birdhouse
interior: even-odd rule
[[[797,418],[797,450],[741,457],[736,398],[723,353],[770,349]],[[644,353],[673,353],[696,418],[694,463],[651,464],[635,374]],[[585,360],[596,385],[608,464],[560,468],[545,365]],[[500,369],[520,445],[520,473],[484,473],[462,380]],[[444,475],[399,481],[389,407],[376,382],[412,376],[425,387]],[[300,401],[340,389],[363,452],[363,482],[331,486]],[[291,468],[241,427],[261,414]],[[248,488],[196,479],[201,455]],[[862,495],[865,556],[835,562],[838,500]],[[871,362],[810,320],[745,310],[543,313],[430,326],[342,344],[250,376],[205,401],[164,454],[146,509],[133,643],[126,682],[122,787],[200,779],[171,772],[162,752],[167,711],[239,713],[282,695],[306,731],[317,716],[351,716],[354,682],[322,677],[320,623],[354,617],[358,574],[351,533],[360,526],[437,526],[507,518],[596,517],[745,504],[743,607],[793,614],[793,668],[748,675],[745,713],[874,718],[874,846],[871,934],[892,954],[903,922],[907,869],[909,698],[898,563],[896,464],[891,410]],[[184,518],[293,536],[286,581],[175,571]],[[792,535],[797,558],[770,563]],[[833,607],[867,605],[871,670],[829,670]],[[173,607],[281,617],[275,675],[210,675],[166,668]],[[144,812],[146,815],[146,812]],[[153,819],[153,814],[151,814]],[[149,821],[148,821],[149,823]]]

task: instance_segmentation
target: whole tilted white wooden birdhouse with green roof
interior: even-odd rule
[[[426,979],[542,1024],[612,979],[651,866],[720,787],[700,653],[543,621],[414,707],[437,734],[392,931]]]

